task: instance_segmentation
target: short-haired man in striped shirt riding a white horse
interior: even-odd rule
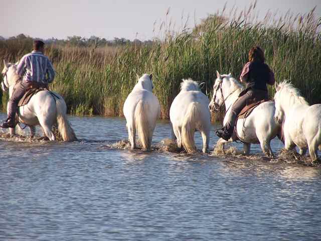
[[[55,71],[51,61],[44,53],[45,43],[41,40],[35,40],[33,51],[26,54],[19,61],[17,74],[22,77],[14,88],[13,95],[8,103],[8,119],[2,125],[3,128],[13,128],[16,126],[15,117],[19,100],[31,88],[47,88],[55,78]]]

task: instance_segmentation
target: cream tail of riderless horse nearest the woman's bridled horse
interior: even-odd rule
[[[185,150],[188,153],[192,153],[196,151],[196,146],[194,142],[194,133],[196,129],[196,122],[198,120],[198,116],[201,116],[200,113],[200,103],[192,102],[187,107],[187,111],[185,113],[182,125],[182,144]]]

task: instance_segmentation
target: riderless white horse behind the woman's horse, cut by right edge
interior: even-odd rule
[[[309,149],[312,161],[317,160],[317,147],[321,144],[321,104],[309,105],[291,83],[275,84],[275,120],[283,125],[286,150],[295,146],[300,155]]]

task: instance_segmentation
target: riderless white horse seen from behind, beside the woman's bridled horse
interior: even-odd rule
[[[173,131],[179,148],[188,153],[196,151],[194,134],[201,132],[203,152],[208,152],[211,130],[209,99],[200,91],[196,81],[183,79],[181,92],[175,97],[170,109]]]

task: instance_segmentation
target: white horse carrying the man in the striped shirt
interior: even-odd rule
[[[1,87],[4,91],[9,89],[9,97],[12,96],[16,84],[20,84],[21,78],[17,75],[16,64],[4,61],[5,67],[2,71],[4,76]],[[39,91],[31,97],[28,104],[18,107],[19,122],[30,127],[31,137],[35,135],[35,126],[40,125],[44,134],[50,141],[56,140],[52,127],[58,124],[58,131],[64,141],[77,140],[66,116],[66,103],[64,99],[53,92],[54,97],[49,91]],[[15,135],[15,128],[10,128],[10,134]]]

